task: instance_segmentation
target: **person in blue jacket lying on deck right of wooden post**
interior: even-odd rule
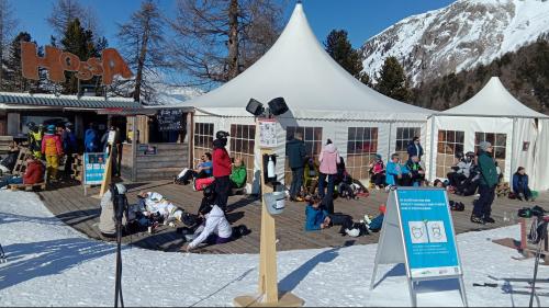
[[[369,233],[368,221],[354,223],[349,215],[332,214],[321,205],[318,196],[312,196],[305,207],[305,231],[327,229],[332,226],[341,226],[339,233],[350,237],[359,237]]]

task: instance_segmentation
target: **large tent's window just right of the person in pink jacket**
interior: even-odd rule
[[[377,127],[349,127],[347,135],[347,172],[352,179],[368,179],[368,166],[378,151]]]

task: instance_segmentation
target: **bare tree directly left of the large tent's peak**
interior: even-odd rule
[[[194,84],[235,78],[277,39],[282,7],[274,0],[178,0],[172,67]]]

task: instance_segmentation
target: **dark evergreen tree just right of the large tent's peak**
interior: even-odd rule
[[[347,37],[347,31],[333,30],[328,34],[326,42],[324,42],[324,46],[328,55],[350,75],[366,84],[370,82],[368,75],[361,75],[363,67],[360,52],[352,49],[349,38]]]

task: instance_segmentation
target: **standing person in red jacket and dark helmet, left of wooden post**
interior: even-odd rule
[[[231,158],[225,149],[227,145],[228,133],[220,130],[215,134],[215,140],[213,140],[213,176],[215,178],[215,193],[217,197],[215,198],[215,204],[226,212],[228,191],[231,190]]]

